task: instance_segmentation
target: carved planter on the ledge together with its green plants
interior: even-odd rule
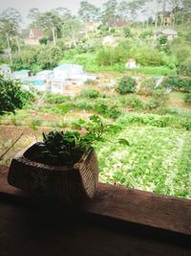
[[[98,182],[95,141],[103,140],[101,119],[94,115],[85,134],[76,130],[43,133],[36,142],[11,160],[8,182],[37,197],[63,198],[70,202],[93,198]],[[84,123],[79,120],[75,127]],[[120,143],[125,140],[120,139]]]

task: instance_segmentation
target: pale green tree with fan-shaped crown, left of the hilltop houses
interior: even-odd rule
[[[68,19],[63,25],[63,34],[71,41],[71,44],[76,46],[77,38],[82,27],[81,22],[75,17]]]

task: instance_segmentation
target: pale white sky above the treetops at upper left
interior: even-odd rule
[[[89,0],[91,4],[101,6],[107,0]],[[79,9],[81,0],[0,0],[0,12],[11,7],[21,13],[24,22],[28,23],[27,14],[31,8],[38,8],[42,12],[49,11],[57,7],[65,7],[72,11],[73,14]]]

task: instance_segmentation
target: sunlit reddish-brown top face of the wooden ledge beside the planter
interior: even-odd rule
[[[30,198],[7,182],[8,168],[0,168],[0,192]],[[191,235],[191,200],[99,183],[95,198],[86,201],[85,213],[138,223]]]

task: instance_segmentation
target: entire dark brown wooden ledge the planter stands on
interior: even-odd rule
[[[191,201],[99,184],[68,211],[7,183],[0,167],[0,255],[191,255]]]

